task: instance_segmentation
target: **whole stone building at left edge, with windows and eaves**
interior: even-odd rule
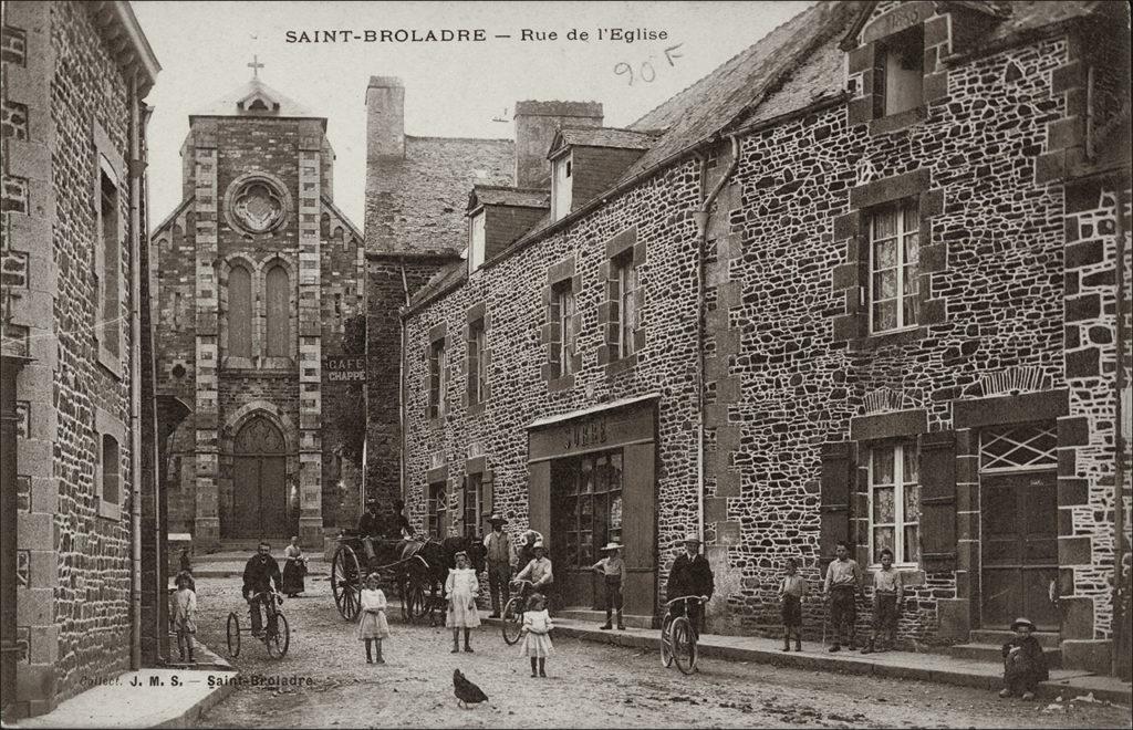
[[[6,2],[0,698],[51,711],[168,651],[144,103],[127,2]]]

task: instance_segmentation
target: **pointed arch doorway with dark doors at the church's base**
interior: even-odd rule
[[[232,515],[224,538],[261,539],[292,534],[288,515],[287,445],[283,432],[257,415],[232,443]]]

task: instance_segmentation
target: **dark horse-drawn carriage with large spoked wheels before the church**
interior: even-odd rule
[[[331,561],[331,592],[342,618],[358,618],[359,594],[367,575],[376,573],[383,585],[397,586],[401,615],[408,621],[428,618],[444,609],[443,586],[455,555],[467,552],[477,572],[484,570],[484,546],[475,538],[436,540],[369,538],[343,531]],[[441,594],[438,594],[441,591]]]

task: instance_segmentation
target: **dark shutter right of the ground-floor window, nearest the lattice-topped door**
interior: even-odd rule
[[[956,435],[920,437],[921,561],[926,573],[956,569]]]

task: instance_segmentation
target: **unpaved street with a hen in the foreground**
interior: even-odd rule
[[[240,687],[201,727],[1130,727],[1128,710],[1096,703],[1002,701],[974,689],[701,660],[685,677],[655,652],[556,638],[547,679],[495,627],[472,635],[472,654],[450,654],[443,627],[409,626],[391,607],[386,664],[365,662],[352,625],[338,615],[324,576],[286,601],[291,649],[282,661],[245,637],[242,676],[309,677],[305,687]],[[224,619],[245,612],[239,578],[202,578],[199,637],[225,654]],[[244,621],[246,625],[246,621]],[[816,651],[817,646],[804,646]],[[457,706],[452,670],[489,701]]]

